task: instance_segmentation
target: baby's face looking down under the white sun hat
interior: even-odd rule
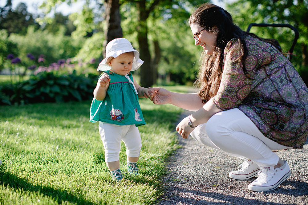
[[[133,52],[122,53],[118,57],[112,59],[108,65],[111,66],[114,73],[126,75],[132,70],[133,60]]]

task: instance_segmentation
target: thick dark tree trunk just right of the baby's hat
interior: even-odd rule
[[[137,1],[137,10],[139,26],[137,29],[137,37],[139,44],[140,59],[144,61],[140,67],[140,85],[148,88],[153,85],[153,64],[151,63],[151,54],[148,44],[148,26],[147,18],[149,16],[146,10],[145,0]]]

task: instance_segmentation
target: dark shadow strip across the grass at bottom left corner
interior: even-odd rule
[[[32,192],[36,194],[39,193],[51,198],[51,200],[53,201],[57,201],[57,203],[59,204],[62,204],[62,202],[65,201],[73,204],[76,203],[82,205],[95,204],[83,199],[80,196],[73,195],[67,190],[55,189],[49,186],[33,185],[32,183],[29,183],[26,179],[22,179],[4,170],[5,164],[2,164],[0,168],[0,183],[5,187],[12,188],[13,191],[19,191],[20,189],[23,192]]]

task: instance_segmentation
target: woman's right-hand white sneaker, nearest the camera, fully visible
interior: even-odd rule
[[[286,161],[282,167],[274,169],[273,166],[264,167],[259,171],[259,177],[248,185],[251,191],[270,191],[276,189],[282,182],[289,178],[291,170]]]

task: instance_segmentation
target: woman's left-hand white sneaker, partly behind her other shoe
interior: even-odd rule
[[[229,173],[230,178],[239,180],[250,179],[257,176],[258,172],[261,170],[259,166],[251,160],[244,160],[244,162],[240,164],[237,169],[237,171],[231,171]]]

